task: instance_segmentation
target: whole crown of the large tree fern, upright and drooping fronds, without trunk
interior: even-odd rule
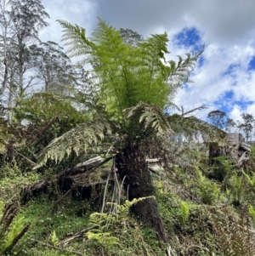
[[[173,96],[181,84],[189,82],[190,71],[201,52],[186,54],[185,59],[178,56],[178,62],[167,61],[166,33],[152,35],[131,47],[123,41],[120,31],[104,20],[99,19],[90,37],[80,26],[72,26],[63,20],[59,20],[59,24],[63,28],[63,40],[70,47],[68,53],[71,56],[83,55],[84,63],[92,66],[93,87],[97,88],[94,110],[97,105],[102,105],[104,111],[99,120],[84,123],[54,139],[42,151],[36,168],[48,158],[59,162],[71,151],[87,152],[88,146],[96,144],[99,138],[109,138],[105,135],[111,130],[121,138],[125,134],[122,145],[139,145],[158,132],[169,134],[172,132],[170,123],[174,125],[180,120],[185,123],[183,129],[175,126],[180,133],[185,129],[189,135],[197,130],[207,134],[212,132],[212,126],[206,122],[184,117],[192,111],[177,115],[174,120],[164,112],[173,107]],[[116,147],[119,151],[120,145]]]

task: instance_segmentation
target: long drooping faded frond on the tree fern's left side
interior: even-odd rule
[[[71,152],[77,155],[80,151],[88,151],[90,145],[96,145],[99,140],[105,138],[105,134],[111,134],[111,126],[105,120],[95,120],[77,125],[59,138],[54,139],[38,157],[34,169],[42,167],[48,159],[56,163],[62,161]]]

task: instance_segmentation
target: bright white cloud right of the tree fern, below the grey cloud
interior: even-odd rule
[[[212,109],[220,106],[232,108],[236,100],[255,100],[255,73],[247,71],[249,60],[254,54],[254,48],[247,46],[232,46],[222,48],[218,44],[210,44],[205,49],[204,65],[196,68],[192,75],[195,83],[188,90],[178,93],[176,103],[194,108],[199,104],[212,105]],[[234,67],[228,71],[229,66]],[[224,97],[227,92],[233,92],[231,99]],[[214,102],[218,101],[218,106]]]

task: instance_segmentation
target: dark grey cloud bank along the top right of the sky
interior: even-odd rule
[[[253,0],[100,0],[97,14],[117,27],[149,35],[159,26],[181,30],[196,26],[206,43],[245,43],[254,35]],[[253,33],[253,34],[252,34]]]

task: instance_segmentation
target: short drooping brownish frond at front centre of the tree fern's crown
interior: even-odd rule
[[[173,131],[165,114],[156,105],[141,101],[138,105],[128,108],[123,112],[128,119],[139,120],[140,123],[144,123],[144,129],[152,128],[159,133]]]

